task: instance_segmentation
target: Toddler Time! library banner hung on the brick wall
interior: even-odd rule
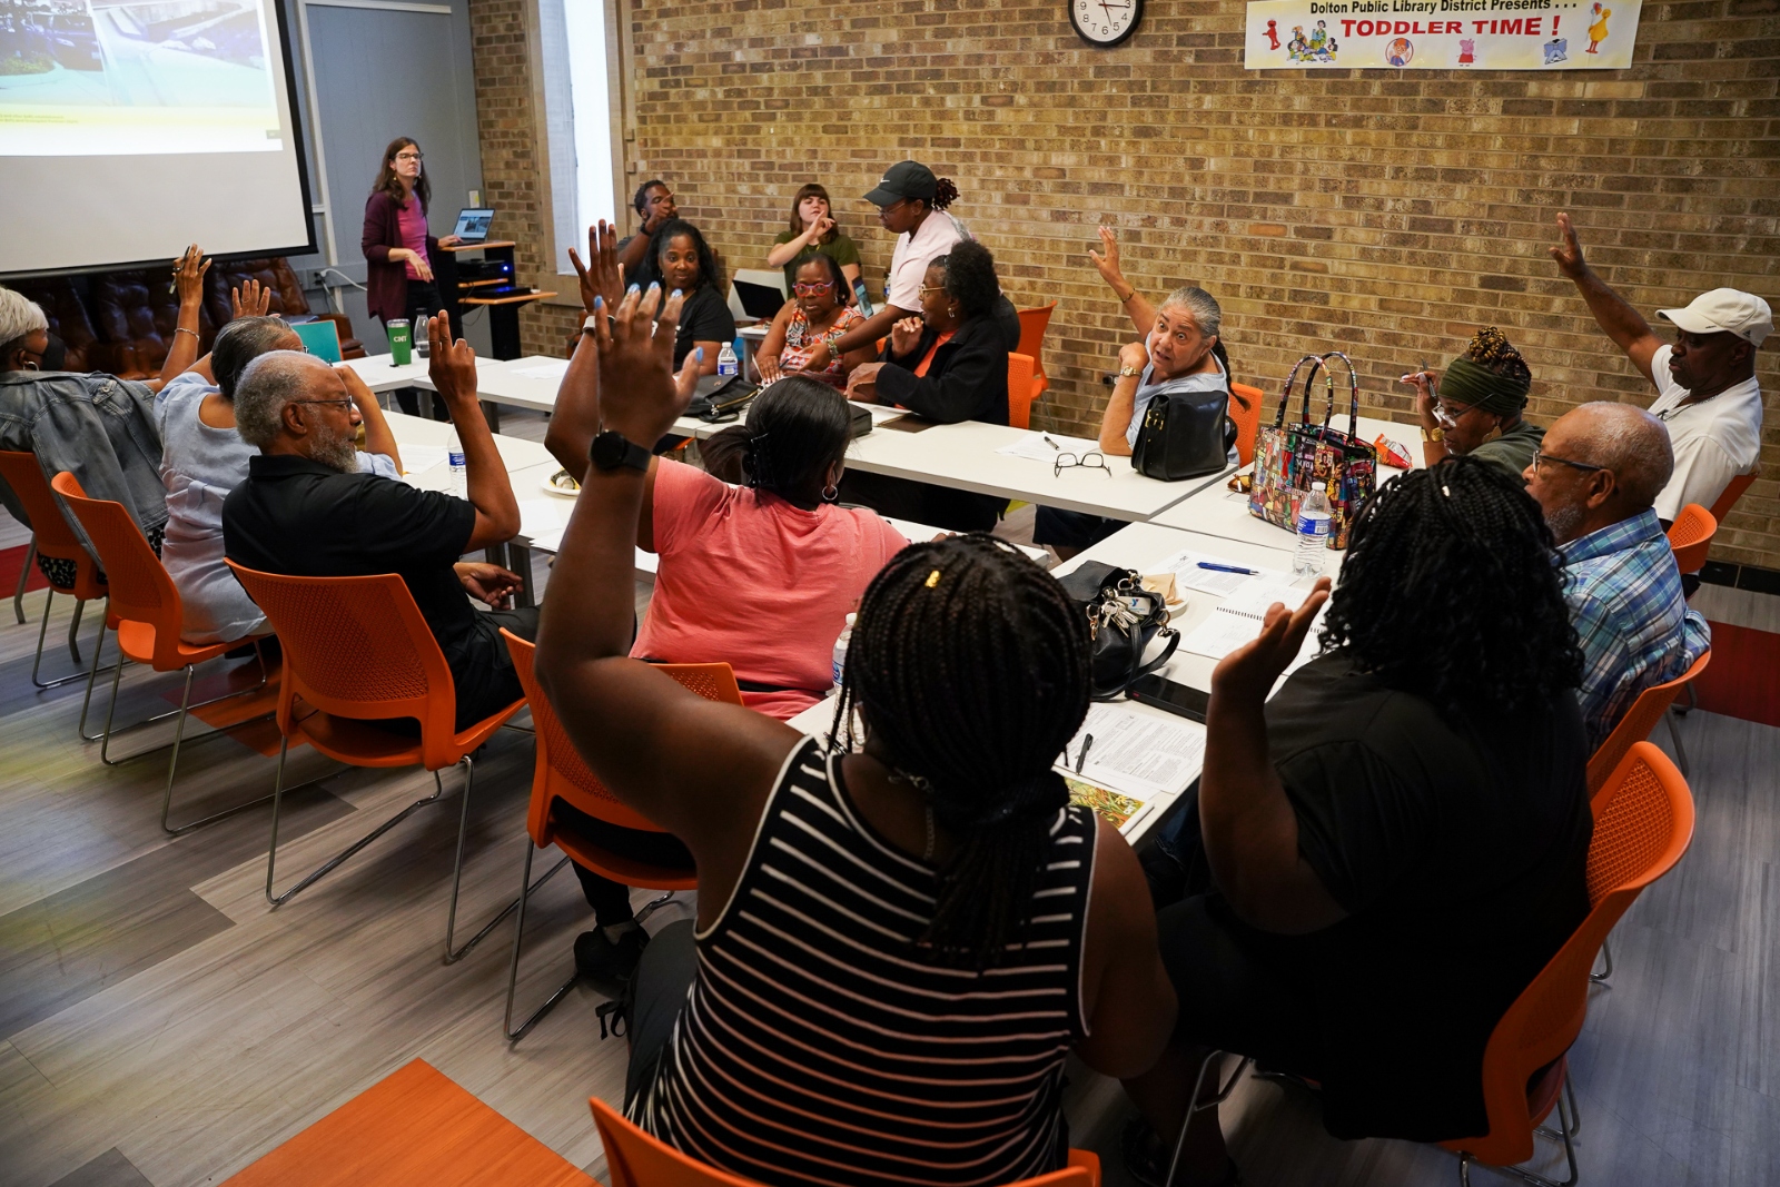
[[[1248,69],[1625,69],[1641,0],[1255,0]]]

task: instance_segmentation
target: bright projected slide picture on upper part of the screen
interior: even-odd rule
[[[0,157],[278,151],[262,0],[0,0]]]

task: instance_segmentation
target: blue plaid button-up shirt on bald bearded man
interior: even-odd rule
[[[1655,511],[1643,511],[1563,548],[1565,600],[1582,644],[1577,701],[1598,747],[1645,689],[1680,676],[1711,646],[1687,609],[1675,552]]]

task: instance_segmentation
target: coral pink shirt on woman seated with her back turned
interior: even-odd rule
[[[742,703],[789,719],[833,687],[835,639],[908,545],[863,507],[794,507],[678,461],[655,470],[655,596],[630,655],[728,664],[783,692]]]

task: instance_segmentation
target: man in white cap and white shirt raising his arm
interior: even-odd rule
[[[1755,351],[1773,333],[1773,311],[1753,294],[1714,288],[1686,310],[1657,310],[1677,331],[1675,345],[1666,345],[1582,260],[1570,215],[1558,215],[1558,231],[1563,242],[1550,249],[1558,271],[1575,281],[1600,327],[1657,386],[1650,413],[1668,425],[1675,450],[1675,473],[1655,498],[1657,518],[1666,527],[1687,504],[1711,509],[1760,454]]]

